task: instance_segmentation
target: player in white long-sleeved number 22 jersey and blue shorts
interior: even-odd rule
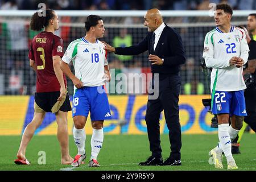
[[[205,36],[205,64],[213,68],[211,73],[212,112],[218,118],[218,138],[220,143],[209,152],[214,166],[223,168],[222,151],[228,161],[228,169],[237,169],[231,152],[231,142],[237,137],[246,116],[246,89],[242,66],[247,62],[249,47],[245,32],[230,24],[233,10],[226,4],[217,5],[214,12],[216,28]],[[231,125],[229,126],[229,117]]]

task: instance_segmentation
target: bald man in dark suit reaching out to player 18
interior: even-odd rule
[[[148,96],[145,120],[152,154],[139,165],[180,166],[181,129],[178,102],[181,79],[179,71],[180,65],[185,63],[182,40],[173,28],[163,23],[162,15],[158,9],[147,11],[144,16],[144,26],[147,26],[148,34],[137,45],[114,48],[106,44],[105,49],[117,55],[138,55],[148,51],[148,60],[151,61],[151,72],[154,75],[152,77],[152,89],[159,91],[159,97],[151,99]],[[159,126],[160,113],[163,110],[171,144],[171,154],[164,162],[160,147]]]

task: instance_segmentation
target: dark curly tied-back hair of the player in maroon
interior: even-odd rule
[[[51,9],[43,10],[45,12],[39,12],[36,11],[32,15],[30,27],[32,30],[40,31],[43,27],[47,27],[49,25],[49,20],[55,18],[55,15],[53,14],[54,11]],[[46,16],[39,16],[39,14],[46,13]]]

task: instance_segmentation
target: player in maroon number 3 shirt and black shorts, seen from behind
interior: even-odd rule
[[[45,16],[43,15],[45,13]],[[63,40],[54,35],[59,29],[59,19],[55,11],[47,9],[32,15],[32,30],[40,31],[30,45],[30,66],[37,73],[34,117],[24,130],[17,154],[16,164],[30,164],[26,159],[26,148],[35,130],[42,124],[46,112],[56,115],[57,138],[61,147],[61,164],[70,164],[72,158],[68,149],[68,111],[71,110],[67,94],[67,80],[60,69],[63,56]]]

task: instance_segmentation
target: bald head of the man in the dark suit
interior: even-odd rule
[[[150,9],[144,16],[144,26],[147,26],[148,31],[155,31],[162,23],[163,17],[158,9]]]

